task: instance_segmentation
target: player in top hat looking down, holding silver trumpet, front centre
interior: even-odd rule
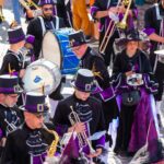
[[[78,138],[79,151],[84,152],[87,157],[96,157],[102,154],[105,136],[103,134],[98,140],[94,141],[93,148],[95,152],[92,152],[92,145],[90,147],[86,140],[93,133],[103,131],[105,127],[102,104],[98,99],[90,96],[96,89],[93,73],[87,69],[79,69],[72,85],[75,89],[74,94],[59,102],[52,121],[58,127],[57,132],[61,136],[65,132],[73,131],[82,137],[86,136],[82,140]],[[72,116],[74,113],[78,120],[74,120],[74,116]],[[85,143],[83,144],[82,141]]]

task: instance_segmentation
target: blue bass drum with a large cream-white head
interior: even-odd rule
[[[43,38],[40,57],[59,66],[62,74],[75,74],[79,59],[69,48],[68,34],[72,28],[48,31]]]

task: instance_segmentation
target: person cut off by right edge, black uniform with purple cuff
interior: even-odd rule
[[[157,113],[160,113],[163,95],[164,61],[162,59],[163,57],[157,57],[157,55],[154,54],[154,50],[164,49],[164,0],[160,0],[159,3],[155,3],[145,11],[144,27],[144,32],[148,34],[152,45],[150,60],[159,82],[159,92],[155,95],[155,99],[156,109]]]

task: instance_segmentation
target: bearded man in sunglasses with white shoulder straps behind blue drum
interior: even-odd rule
[[[34,54],[36,59],[38,59],[43,36],[46,31],[65,27],[63,20],[54,16],[55,2],[52,0],[40,0],[38,4],[42,8],[43,15],[32,20],[27,26],[27,34],[35,36]]]

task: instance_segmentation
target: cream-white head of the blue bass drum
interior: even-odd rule
[[[39,58],[54,62],[61,69],[60,46],[56,35],[51,31],[45,33]]]

